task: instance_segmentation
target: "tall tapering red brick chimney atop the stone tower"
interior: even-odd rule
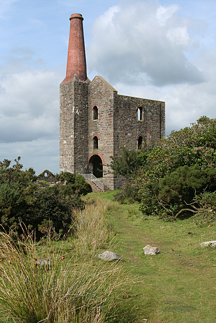
[[[74,77],[82,82],[87,80],[82,20],[83,18],[80,14],[73,14],[70,17],[67,70],[66,77],[62,83],[72,81]]]

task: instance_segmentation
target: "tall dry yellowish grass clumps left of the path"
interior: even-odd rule
[[[88,248],[79,257],[66,239],[38,246],[31,235],[14,241],[0,232],[0,307],[8,317],[23,323],[100,323],[113,315],[128,278],[119,261],[108,264],[95,254],[113,234],[107,207],[96,202],[76,214],[75,243],[79,250]]]

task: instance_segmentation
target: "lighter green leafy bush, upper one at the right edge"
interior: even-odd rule
[[[216,119],[201,117],[190,127],[172,131],[151,149],[144,168],[145,180],[158,181],[180,166],[215,166]]]

